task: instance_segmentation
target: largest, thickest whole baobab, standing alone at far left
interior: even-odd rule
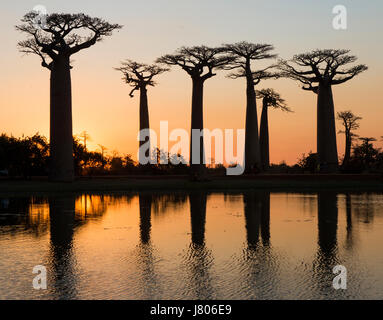
[[[85,14],[49,14],[44,24],[36,24],[39,13],[27,13],[17,30],[29,38],[19,42],[21,52],[36,54],[50,71],[50,157],[52,181],[72,181],[73,132],[70,58],[112,35],[118,24]],[[86,32],[90,34],[85,36]]]

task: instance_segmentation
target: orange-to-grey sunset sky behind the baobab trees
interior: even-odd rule
[[[73,56],[73,128],[84,130],[109,152],[136,157],[139,127],[138,96],[113,67],[130,58],[151,63],[180,46],[249,41],[270,43],[281,58],[316,48],[350,49],[369,70],[334,88],[336,111],[352,110],[363,117],[361,136],[383,136],[381,85],[383,80],[383,2],[381,0],[146,0],[146,1],[2,1],[0,13],[0,132],[14,136],[40,132],[49,136],[49,71],[37,56],[25,56],[16,44],[25,36],[14,28],[35,5],[48,12],[78,13],[102,17],[124,25],[112,37]],[[348,29],[332,28],[332,8],[348,9]],[[220,72],[205,87],[205,127],[244,128],[245,83]],[[182,70],[157,78],[149,89],[151,127],[161,120],[169,127],[190,128],[191,80]],[[316,96],[291,80],[270,80],[258,88],[272,87],[295,111],[270,111],[271,161],[295,163],[302,153],[316,151]],[[260,110],[259,110],[260,116]],[[337,130],[341,129],[337,123]],[[383,146],[382,142],[377,143]],[[338,135],[339,155],[343,136]]]

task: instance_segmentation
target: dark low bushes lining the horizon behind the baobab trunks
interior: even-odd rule
[[[374,146],[374,138],[359,138],[352,146],[347,164],[342,165],[341,173],[383,173],[383,152]],[[89,151],[84,142],[73,138],[73,158],[76,176],[106,175],[187,175],[188,165],[180,161],[172,164],[172,157],[181,158],[159,149],[152,151],[156,164],[140,165],[130,154],[105,154],[104,151]],[[166,161],[167,159],[167,161]],[[9,177],[30,178],[49,175],[49,143],[46,137],[35,134],[32,137],[15,138],[6,134],[0,135],[0,175]],[[174,163],[174,161],[173,161]],[[209,166],[212,175],[224,176],[226,169],[222,164]],[[270,174],[303,174],[319,173],[318,155],[313,152],[303,154],[297,163],[287,165],[285,162],[271,164],[267,170]]]

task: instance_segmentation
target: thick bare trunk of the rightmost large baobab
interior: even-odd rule
[[[320,170],[322,172],[336,172],[338,169],[338,151],[331,85],[321,84],[318,90],[317,149]]]

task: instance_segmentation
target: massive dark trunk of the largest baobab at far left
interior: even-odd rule
[[[69,57],[58,57],[52,63],[50,87],[50,180],[70,182],[74,161]]]

